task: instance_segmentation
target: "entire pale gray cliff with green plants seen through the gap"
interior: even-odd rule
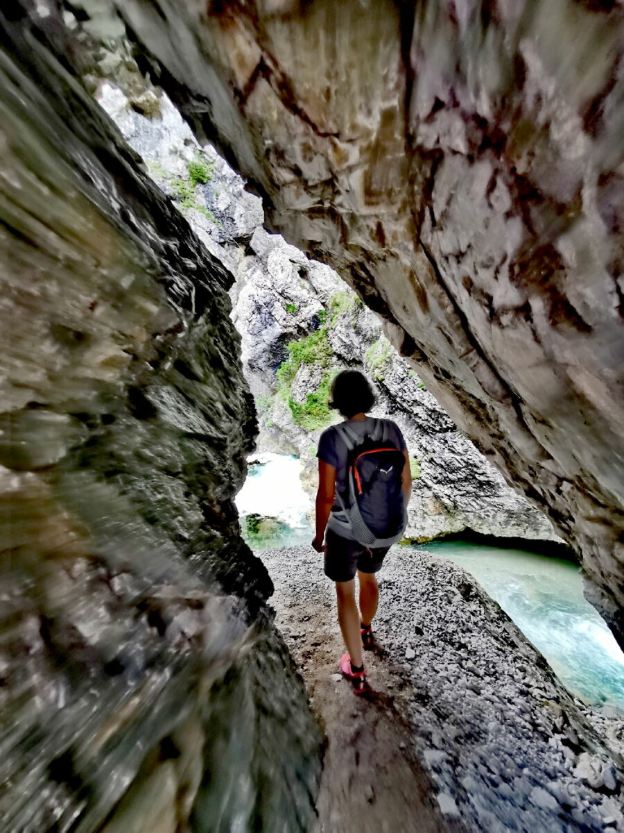
[[[129,66],[127,56],[123,66]],[[245,192],[213,148],[196,142],[166,94],[145,81],[141,90],[138,79],[128,90],[118,68],[107,71],[111,80],[97,85],[98,101],[209,251],[235,275],[232,318],[258,410],[256,451],[294,451],[314,492],[319,434],[337,418],[325,407],[328,377],[340,367],[359,367],[377,387],[376,413],[399,422],[413,458],[407,537],[428,541],[469,530],[558,540],[546,517],[458,432],[384,337],[379,317],[329,267],[264,231],[260,200]],[[139,112],[136,102],[146,100],[155,112]],[[286,380],[293,342],[309,355]]]

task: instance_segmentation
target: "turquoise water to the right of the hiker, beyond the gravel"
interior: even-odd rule
[[[624,709],[624,654],[585,601],[578,567],[523,550],[463,541],[423,544],[472,573],[562,683],[594,704]]]

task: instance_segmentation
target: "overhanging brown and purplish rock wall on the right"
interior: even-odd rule
[[[622,628],[613,2],[118,2],[270,226],[336,268]]]

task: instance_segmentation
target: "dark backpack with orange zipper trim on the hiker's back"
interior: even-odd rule
[[[334,429],[349,450],[345,496],[337,491],[342,508],[339,514],[344,520],[335,518],[334,531],[340,526],[344,530],[346,522],[351,535],[363,546],[396,544],[408,524],[401,477],[403,451],[388,440],[388,426],[379,419],[364,437],[346,423]]]

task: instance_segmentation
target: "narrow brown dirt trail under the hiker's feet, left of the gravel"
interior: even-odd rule
[[[276,625],[305,680],[328,738],[319,793],[318,833],[439,833],[463,831],[433,800],[433,785],[418,765],[409,727],[394,701],[404,685],[379,647],[365,653],[373,694],[354,695],[339,677],[344,652],[334,586],[314,556],[288,559],[260,553],[275,583]]]

